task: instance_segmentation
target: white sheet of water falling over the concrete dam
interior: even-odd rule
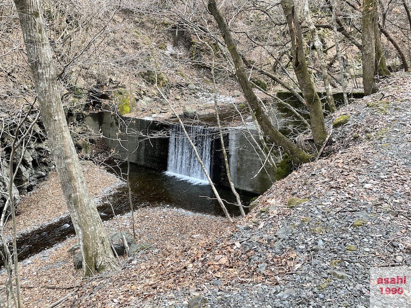
[[[210,130],[203,126],[185,126],[197,152],[210,174],[211,136]],[[167,175],[188,180],[195,184],[209,184],[204,171],[180,125],[173,125],[170,131]]]

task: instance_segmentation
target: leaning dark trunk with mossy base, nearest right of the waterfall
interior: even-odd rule
[[[222,17],[220,11],[217,8],[215,0],[210,0],[208,3],[208,9],[211,14],[214,16],[218,28],[221,31],[221,34],[224,37],[227,48],[230,51],[231,57],[233,58],[235,66],[235,75],[237,77],[238,83],[244,92],[246,100],[250,105],[255,117],[260,125],[261,129],[267,134],[270,142],[281,146],[291,157],[292,161],[296,165],[309,161],[309,156],[300,148],[298,148],[294,143],[287,139],[281,132],[279,132],[272,125],[267,114],[264,112],[263,108],[259,103],[257,96],[255,95],[251,84],[248,80],[248,74],[244,68],[244,62],[242,62],[241,56],[239,55],[237,48],[234,44],[234,40],[231,36],[230,29]]]

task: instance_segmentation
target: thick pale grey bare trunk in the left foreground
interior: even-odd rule
[[[63,194],[79,238],[83,274],[119,268],[92,201],[65,118],[40,0],[15,0],[40,112]]]

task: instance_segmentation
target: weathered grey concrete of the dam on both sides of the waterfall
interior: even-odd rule
[[[130,162],[159,171],[167,169],[169,137],[165,132],[169,125],[150,120],[118,118],[109,111],[92,115],[92,118],[86,121],[96,132],[101,127],[101,133],[108,147],[115,150],[115,158],[127,159],[128,148]],[[93,121],[97,125],[93,124]],[[258,140],[256,130],[251,128],[250,131]],[[254,141],[245,132],[245,128],[230,128],[225,133],[224,139],[229,152],[229,166],[235,187],[257,194],[266,191],[272,185],[275,171],[269,168],[268,164],[266,168],[261,168],[264,158],[260,158],[256,153]],[[215,184],[229,187],[218,134],[215,134],[212,143],[211,179]]]

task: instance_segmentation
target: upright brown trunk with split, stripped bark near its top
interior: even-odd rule
[[[305,61],[303,38],[301,35],[301,26],[298,16],[295,12],[292,0],[281,0],[284,14],[286,15],[288,28],[290,30],[292,45],[292,65],[295,75],[297,76],[300,89],[303,91],[304,99],[307,102],[310,111],[311,130],[314,143],[321,148],[328,134],[324,124],[324,113],[320,97],[315,91],[314,84],[310,78],[307,63]]]

